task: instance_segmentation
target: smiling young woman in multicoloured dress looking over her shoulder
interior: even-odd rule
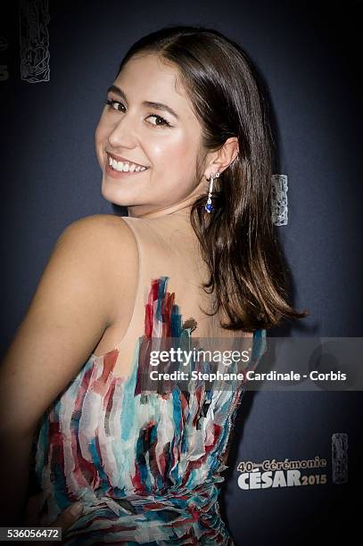
[[[95,147],[103,196],[128,217],[64,230],[5,356],[8,517],[21,517],[36,438],[43,524],[83,503],[64,543],[233,544],[218,493],[243,384],[146,394],[140,376],[153,338],[252,337],[255,366],[266,329],[307,314],[286,300],[252,62],[213,29],[143,37]]]

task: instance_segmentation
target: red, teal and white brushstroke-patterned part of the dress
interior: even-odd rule
[[[168,277],[152,281],[144,338],[191,335],[167,284]],[[252,367],[265,335],[254,333]],[[233,545],[218,495],[243,385],[144,394],[137,387],[142,338],[130,376],[112,374],[118,349],[92,355],[41,419],[36,473],[49,495],[43,525],[79,499],[83,513],[63,544]]]

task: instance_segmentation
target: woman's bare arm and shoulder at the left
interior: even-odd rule
[[[59,237],[0,367],[0,488],[3,525],[20,524],[37,423],[78,374],[128,290],[125,253],[133,251],[120,218],[95,215]],[[123,273],[125,271],[125,273]]]

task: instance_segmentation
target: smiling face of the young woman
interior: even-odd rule
[[[202,127],[177,75],[155,54],[133,57],[107,94],[95,131],[102,194],[131,216],[193,202],[208,185],[196,179]]]

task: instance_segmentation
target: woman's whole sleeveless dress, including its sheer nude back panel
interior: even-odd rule
[[[187,210],[120,218],[136,237],[139,275],[132,318],[110,352],[90,356],[40,419],[35,472],[48,495],[42,525],[84,505],[62,543],[233,545],[219,513],[219,485],[244,384],[143,392],[143,343],[152,338],[241,337],[199,310],[208,298]],[[203,269],[204,267],[204,269]],[[203,306],[204,305],[204,306]],[[199,328],[199,329],[198,329]],[[251,335],[250,335],[251,336]],[[266,330],[253,333],[255,368]],[[130,362],[128,375],[114,373]]]

